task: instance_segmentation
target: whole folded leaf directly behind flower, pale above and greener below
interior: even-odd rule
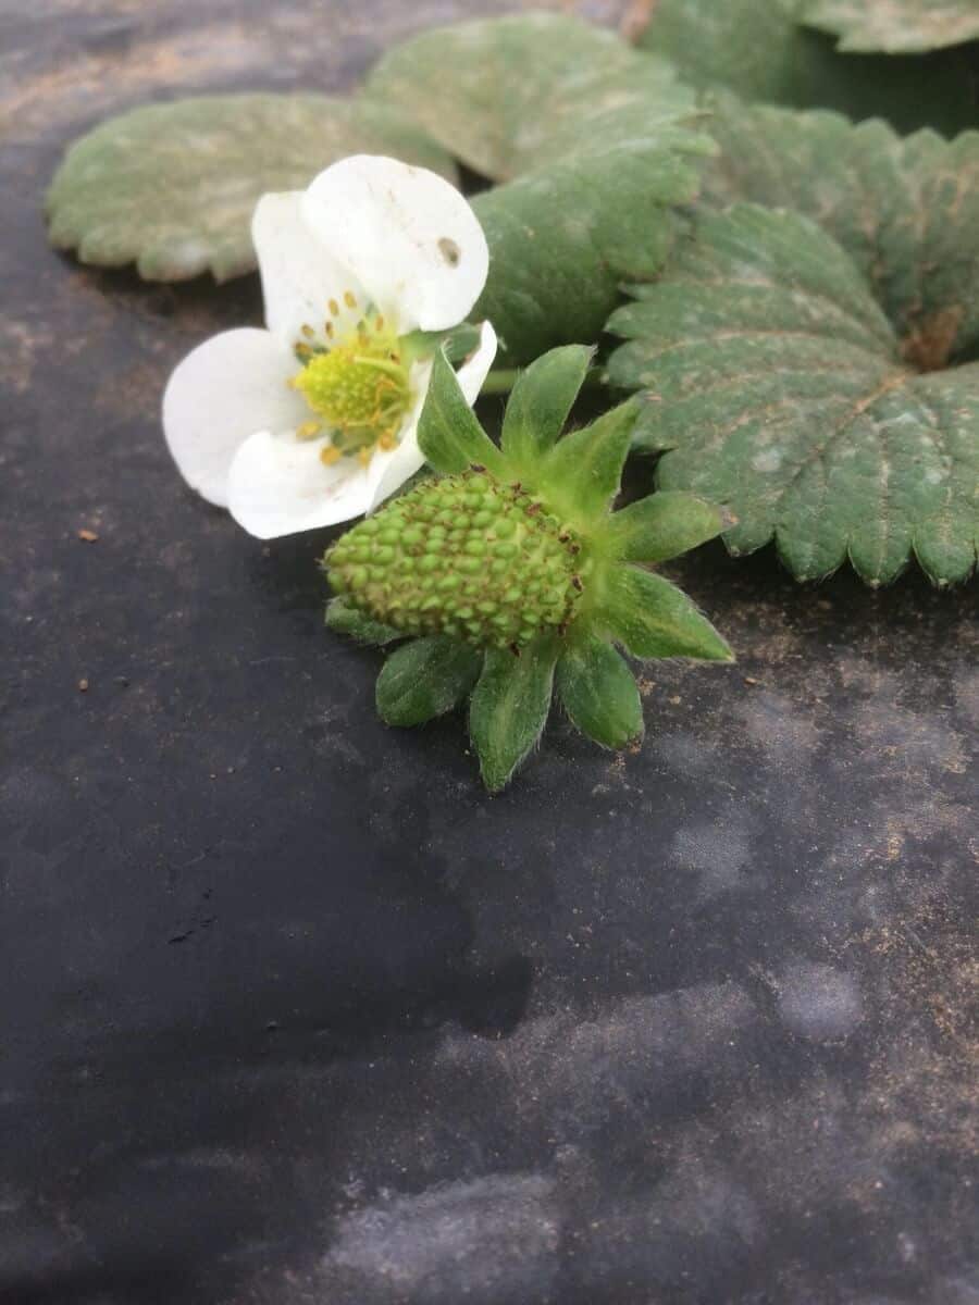
[[[510,363],[598,339],[625,279],[658,273],[671,206],[713,142],[668,64],[559,14],[456,23],[390,51],[367,94],[509,184],[473,201],[489,244],[475,307]]]

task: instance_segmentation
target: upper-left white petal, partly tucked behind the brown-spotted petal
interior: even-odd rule
[[[265,298],[265,325],[290,347],[302,341],[303,326],[324,341],[330,300],[339,308],[332,320],[339,335],[356,326],[367,307],[364,287],[311,230],[303,217],[303,192],[264,194],[252,218]],[[345,295],[356,300],[350,307]]]

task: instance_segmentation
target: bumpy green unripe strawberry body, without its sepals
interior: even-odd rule
[[[569,621],[578,551],[520,484],[470,470],[396,499],[325,561],[334,590],[385,625],[520,649]]]

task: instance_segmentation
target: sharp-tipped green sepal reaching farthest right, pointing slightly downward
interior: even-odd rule
[[[638,566],[610,572],[602,607],[608,633],[640,658],[691,656],[734,662],[734,652],[687,595]]]

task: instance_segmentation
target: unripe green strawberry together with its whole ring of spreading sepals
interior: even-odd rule
[[[611,512],[636,423],[627,402],[560,436],[590,350],[555,350],[523,372],[497,448],[439,356],[419,442],[441,472],[354,527],[324,559],[337,596],[326,624],[403,643],[377,681],[377,710],[420,724],[470,699],[489,790],[538,743],[556,692],[606,748],[644,732],[637,658],[730,660],[691,600],[646,566],[710,539],[723,517],[689,495]]]

